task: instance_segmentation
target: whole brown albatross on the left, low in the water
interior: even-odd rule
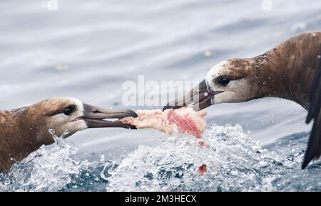
[[[71,97],[54,97],[29,107],[0,111],[0,172],[41,145],[54,143],[49,129],[54,129],[57,136],[66,130],[67,136],[71,136],[76,131],[98,127],[135,129],[120,121],[104,120],[126,116],[137,117],[137,114],[129,109],[93,107]]]

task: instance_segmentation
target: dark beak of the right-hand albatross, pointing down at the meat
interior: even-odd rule
[[[163,108],[165,109],[178,109],[189,104],[193,104],[195,111],[200,111],[210,105],[214,104],[213,97],[215,94],[222,93],[223,91],[213,91],[208,87],[206,80],[200,82],[199,85],[190,90],[185,96],[175,99],[173,102],[169,102]]]

